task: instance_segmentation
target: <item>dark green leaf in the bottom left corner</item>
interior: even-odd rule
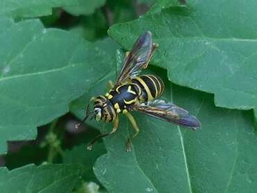
[[[26,165],[12,171],[0,168],[1,192],[72,192],[80,181],[80,165]]]

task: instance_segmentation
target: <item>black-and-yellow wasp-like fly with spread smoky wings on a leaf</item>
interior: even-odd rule
[[[118,114],[120,112],[128,117],[135,129],[135,133],[126,142],[126,151],[131,151],[131,140],[140,131],[130,111],[143,112],[151,117],[172,122],[179,126],[193,128],[194,130],[200,126],[200,121],[196,117],[189,115],[187,110],[179,108],[170,102],[154,100],[163,94],[165,87],[162,79],[151,74],[138,76],[142,69],[147,68],[157,47],[158,44],[153,43],[151,32],[147,31],[140,35],[131,52],[126,52],[123,67],[115,85],[110,82],[111,89],[105,96],[92,97],[94,110],[90,112],[88,105],[85,118],[81,124],[92,115],[97,121],[113,122],[113,131],[102,133],[95,137],[88,145],[88,149],[92,149],[93,144],[99,138],[117,131],[119,124]]]

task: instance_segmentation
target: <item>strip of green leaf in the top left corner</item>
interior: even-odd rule
[[[51,15],[52,8],[78,6],[80,0],[1,0],[0,15],[11,17],[39,17]]]

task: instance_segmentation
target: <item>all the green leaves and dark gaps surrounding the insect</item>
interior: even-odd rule
[[[256,1],[0,1],[1,192],[256,192]],[[144,73],[198,131],[133,113],[75,129],[144,31]],[[118,67],[117,67],[118,66]]]

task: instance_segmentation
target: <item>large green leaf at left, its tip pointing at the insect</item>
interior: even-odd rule
[[[36,126],[68,112],[69,102],[110,71],[113,60],[72,33],[37,19],[1,18],[0,152],[7,140],[35,137]]]

